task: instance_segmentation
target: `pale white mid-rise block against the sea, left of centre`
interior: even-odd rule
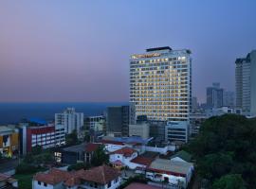
[[[64,126],[66,134],[76,130],[78,135],[83,128],[83,112],[76,112],[74,108],[67,108],[64,112],[55,113],[55,125]]]

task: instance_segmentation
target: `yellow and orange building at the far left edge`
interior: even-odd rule
[[[18,155],[19,130],[12,126],[0,126],[0,153],[4,157]]]

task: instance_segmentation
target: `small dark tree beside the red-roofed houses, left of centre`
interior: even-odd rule
[[[103,163],[109,163],[109,155],[105,153],[104,146],[99,146],[92,156],[92,165],[100,166]]]

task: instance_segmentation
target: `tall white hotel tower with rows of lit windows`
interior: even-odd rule
[[[149,48],[130,59],[130,102],[136,116],[188,121],[192,109],[192,59],[188,49]]]

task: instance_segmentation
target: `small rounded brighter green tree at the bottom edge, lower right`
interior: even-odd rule
[[[246,189],[241,175],[226,175],[214,181],[212,189]]]

